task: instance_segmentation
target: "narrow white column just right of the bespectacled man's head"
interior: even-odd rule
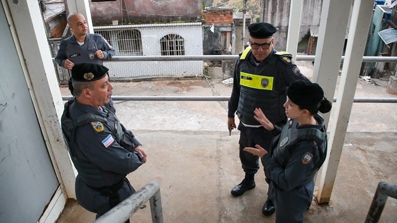
[[[289,9],[287,52],[292,54],[292,58],[296,59],[296,51],[298,50],[299,28],[301,25],[303,0],[291,0]]]

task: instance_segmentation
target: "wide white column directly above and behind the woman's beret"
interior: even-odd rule
[[[325,97],[330,101],[335,93],[351,2],[324,0],[321,10],[312,81],[323,88]],[[330,120],[330,113],[323,114],[326,126]]]

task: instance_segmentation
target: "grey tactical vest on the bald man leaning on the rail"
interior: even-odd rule
[[[67,58],[74,64],[77,63],[97,63],[102,65],[102,59],[95,56],[95,52],[98,50],[96,46],[94,35],[87,34],[86,41],[82,46],[71,43],[71,40],[66,45]],[[73,37],[73,36],[72,36]],[[88,38],[90,37],[90,38]],[[70,37],[71,38],[71,37]]]

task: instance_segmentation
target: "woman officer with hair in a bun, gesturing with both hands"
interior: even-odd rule
[[[331,102],[316,83],[298,80],[287,90],[285,114],[290,120],[281,129],[261,109],[255,119],[276,136],[270,150],[260,145],[245,151],[262,158],[271,182],[269,198],[274,201],[276,223],[298,223],[313,199],[314,176],[327,155],[327,131],[318,111],[327,113]]]

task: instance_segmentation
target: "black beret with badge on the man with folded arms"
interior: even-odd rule
[[[109,69],[96,63],[78,63],[71,69],[71,78],[75,81],[95,81],[103,78]]]

